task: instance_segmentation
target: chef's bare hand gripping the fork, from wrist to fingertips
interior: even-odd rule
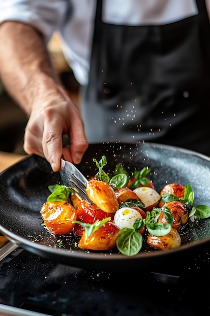
[[[44,97],[33,100],[25,130],[24,150],[47,159],[53,171],[60,169],[60,157],[79,164],[88,148],[84,125],[78,108],[61,86],[50,89]],[[71,145],[62,148],[62,136],[69,137]]]

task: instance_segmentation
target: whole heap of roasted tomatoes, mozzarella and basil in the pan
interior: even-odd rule
[[[190,184],[165,185],[160,192],[148,178],[150,168],[129,176],[119,163],[114,176],[103,170],[106,157],[96,163],[98,173],[88,181],[86,192],[93,203],[82,200],[64,185],[49,186],[51,194],[41,206],[44,225],[54,235],[74,233],[78,247],[89,250],[117,248],[132,256],[143,243],[167,250],[181,245],[184,228],[210,216],[210,207],[194,205]]]

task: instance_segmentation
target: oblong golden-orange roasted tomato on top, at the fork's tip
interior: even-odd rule
[[[112,186],[104,181],[89,180],[86,192],[104,212],[115,213],[119,205]]]

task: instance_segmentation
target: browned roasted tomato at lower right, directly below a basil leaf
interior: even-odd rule
[[[181,245],[181,237],[177,230],[172,228],[170,233],[164,236],[154,236],[149,234],[147,243],[155,249],[167,250],[179,247]]]

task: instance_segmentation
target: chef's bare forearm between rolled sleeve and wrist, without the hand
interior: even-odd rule
[[[5,22],[0,25],[0,40],[2,80],[11,96],[30,114],[37,92],[41,95],[42,90],[49,91],[57,81],[44,39],[26,24]]]

